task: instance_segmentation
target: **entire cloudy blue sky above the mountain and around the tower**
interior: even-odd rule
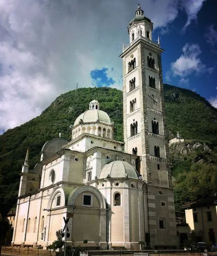
[[[122,44],[140,4],[163,83],[217,108],[217,0],[0,0],[0,134],[78,87],[122,89]]]

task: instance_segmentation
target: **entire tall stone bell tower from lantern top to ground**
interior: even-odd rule
[[[140,157],[145,184],[146,242],[176,245],[174,199],[167,162],[162,68],[159,39],[152,40],[153,23],[138,5],[128,25],[129,45],[123,46],[124,151]]]

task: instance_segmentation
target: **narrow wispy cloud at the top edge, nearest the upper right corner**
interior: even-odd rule
[[[184,25],[186,29],[191,21],[196,20],[198,12],[202,8],[202,4],[207,0],[182,0],[181,4],[187,15],[187,22]]]

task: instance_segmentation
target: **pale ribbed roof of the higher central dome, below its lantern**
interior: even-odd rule
[[[107,113],[98,109],[89,109],[79,115],[74,121],[74,126],[79,124],[80,120],[83,123],[105,123],[111,125],[110,118]]]

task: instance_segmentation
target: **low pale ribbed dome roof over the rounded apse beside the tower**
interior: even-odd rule
[[[131,178],[138,179],[136,170],[125,161],[112,161],[102,166],[98,179],[111,178]]]

